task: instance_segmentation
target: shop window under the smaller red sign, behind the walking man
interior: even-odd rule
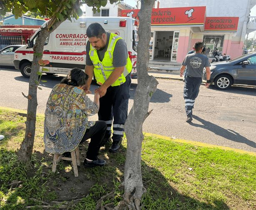
[[[217,51],[218,54],[222,54],[223,51],[223,42],[224,42],[224,35],[204,35],[203,36],[203,44],[206,48],[206,56],[208,58],[214,58],[213,51]]]

